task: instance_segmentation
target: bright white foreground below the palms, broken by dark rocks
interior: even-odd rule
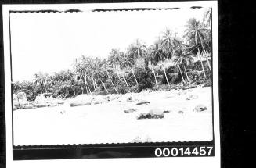
[[[135,95],[150,104],[113,100],[98,105],[16,110],[13,112],[14,145],[128,143],[134,139],[152,142],[212,140],[210,87]],[[186,100],[189,95],[198,98]],[[198,104],[206,105],[207,110],[193,112]],[[137,111],[124,113],[127,108]],[[171,112],[164,113],[163,119],[136,119],[139,113],[153,108]],[[63,109],[66,113],[61,114]],[[179,110],[184,113],[179,114]]]

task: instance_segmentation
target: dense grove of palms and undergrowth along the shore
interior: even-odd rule
[[[72,98],[200,84],[211,78],[211,30],[205,20],[188,20],[183,39],[167,29],[148,47],[137,39],[126,51],[112,49],[107,59],[82,55],[70,70],[37,73],[33,81],[13,83],[13,93],[23,91],[32,101],[43,93]]]

